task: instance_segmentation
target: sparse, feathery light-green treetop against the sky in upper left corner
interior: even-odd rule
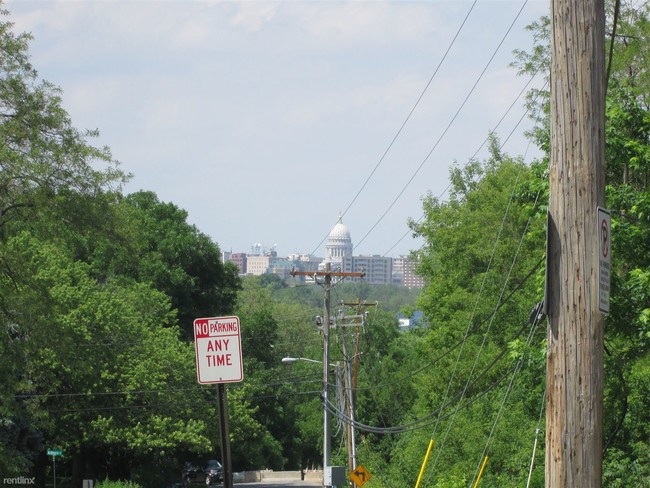
[[[16,35],[0,4],[0,229],[56,208],[57,196],[119,188],[127,175],[108,148],[87,139],[61,106],[61,91],[38,79],[28,34]],[[103,168],[103,169],[95,169]],[[22,226],[22,224],[21,224]]]

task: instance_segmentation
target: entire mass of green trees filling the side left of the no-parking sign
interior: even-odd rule
[[[72,125],[28,41],[2,20],[0,472],[42,484],[56,448],[75,485],[150,478],[217,445],[183,339],[188,317],[232,313],[239,280],[185,212],[122,195],[128,175]]]

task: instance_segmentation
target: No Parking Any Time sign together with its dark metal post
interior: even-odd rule
[[[233,488],[228,397],[225,383],[244,379],[239,317],[213,317],[194,321],[196,376],[199,383],[217,384],[223,486]],[[55,487],[56,488],[56,487]]]

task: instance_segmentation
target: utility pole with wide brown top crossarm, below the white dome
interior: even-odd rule
[[[332,271],[331,263],[325,263],[325,271],[291,271],[291,276],[313,276],[315,279],[323,277],[323,486],[326,484],[326,472],[331,467],[332,443],[331,443],[331,422],[332,414],[329,409],[329,384],[330,384],[330,296],[332,290],[332,278],[363,278],[365,273],[344,273]]]

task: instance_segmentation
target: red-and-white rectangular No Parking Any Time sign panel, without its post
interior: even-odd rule
[[[244,379],[239,317],[196,319],[194,347],[199,383],[234,383]]]

